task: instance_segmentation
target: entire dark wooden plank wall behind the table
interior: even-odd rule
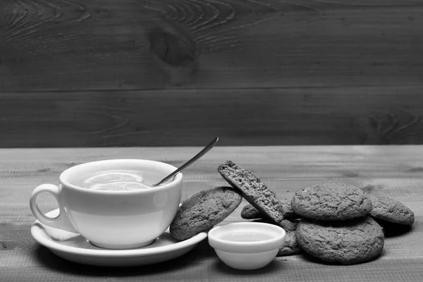
[[[0,147],[421,144],[419,0],[0,0]]]

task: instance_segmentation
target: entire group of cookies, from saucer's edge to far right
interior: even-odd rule
[[[249,204],[241,211],[243,219],[259,219],[285,229],[286,241],[278,256],[304,250],[327,262],[357,264],[381,254],[384,231],[379,223],[414,223],[414,214],[400,202],[367,195],[353,185],[310,185],[287,200],[233,161],[217,170],[231,187],[200,191],[185,200],[170,226],[173,238],[185,240],[208,231],[244,198]]]

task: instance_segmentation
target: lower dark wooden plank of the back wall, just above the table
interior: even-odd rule
[[[0,147],[403,145],[423,87],[3,92]]]

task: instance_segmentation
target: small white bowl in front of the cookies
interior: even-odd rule
[[[285,235],[283,228],[274,224],[229,223],[209,231],[209,245],[234,269],[259,269],[276,257]]]

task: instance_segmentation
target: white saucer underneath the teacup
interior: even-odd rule
[[[59,215],[59,209],[54,209],[46,215],[56,217]],[[32,224],[31,234],[39,244],[48,247],[51,252],[63,259],[97,266],[136,266],[164,262],[184,255],[207,238],[207,233],[202,232],[188,240],[178,241],[171,238],[166,230],[147,247],[133,250],[105,250],[91,245],[78,233],[51,228],[39,221]]]

